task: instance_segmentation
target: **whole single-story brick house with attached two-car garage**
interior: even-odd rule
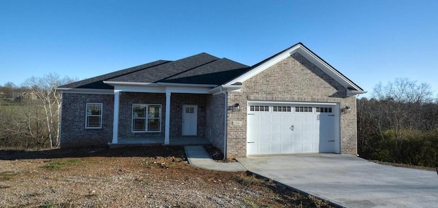
[[[62,148],[201,139],[227,158],[356,155],[365,93],[302,43],[254,66],[200,53],[58,89]]]

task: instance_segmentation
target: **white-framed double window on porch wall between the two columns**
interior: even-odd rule
[[[161,131],[161,124],[161,105],[132,105],[132,131]]]

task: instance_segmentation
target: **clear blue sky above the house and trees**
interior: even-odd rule
[[[438,92],[437,0],[2,0],[0,84],[201,52],[251,66],[296,42],[368,92],[396,77]]]

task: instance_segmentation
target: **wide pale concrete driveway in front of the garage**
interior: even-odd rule
[[[250,172],[344,207],[437,207],[438,175],[352,155],[244,157]]]

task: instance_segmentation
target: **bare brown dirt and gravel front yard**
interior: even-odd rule
[[[143,146],[0,150],[0,207],[331,206],[246,172],[194,168],[182,146]]]

